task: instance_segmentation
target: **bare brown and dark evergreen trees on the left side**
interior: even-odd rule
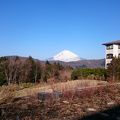
[[[51,64],[40,61],[29,56],[21,59],[18,56],[0,58],[0,85],[48,82],[50,78],[61,80],[60,72],[70,69],[59,63]]]

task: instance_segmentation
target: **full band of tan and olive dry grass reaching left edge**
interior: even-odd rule
[[[105,84],[104,81],[96,80],[75,80],[60,83],[50,83],[34,85],[31,83],[24,83],[20,85],[11,84],[9,86],[0,87],[0,104],[11,102],[14,98],[34,96],[39,92],[52,93],[54,91],[66,93],[66,91],[76,91],[77,89],[86,87],[95,87],[97,85]]]

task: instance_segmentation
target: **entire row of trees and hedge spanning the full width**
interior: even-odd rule
[[[76,68],[63,66],[59,62],[42,63],[31,56],[0,57],[0,85],[11,83],[58,82],[75,79],[120,81],[120,58],[113,58],[107,69]]]

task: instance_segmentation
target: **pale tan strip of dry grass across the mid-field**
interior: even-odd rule
[[[23,97],[23,96],[32,96],[37,94],[38,92],[53,92],[53,91],[68,91],[75,90],[78,88],[97,86],[97,85],[105,85],[105,81],[97,81],[97,80],[75,80],[75,81],[67,81],[67,82],[59,82],[54,83],[51,82],[49,84],[38,84],[35,86],[30,86],[26,89],[22,89],[15,92],[15,97]]]

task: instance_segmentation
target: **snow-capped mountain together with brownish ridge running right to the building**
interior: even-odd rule
[[[69,50],[63,50],[57,55],[48,59],[51,63],[59,62],[60,64],[66,66],[71,66],[73,68],[104,68],[105,60],[104,59],[94,59],[94,60],[86,60],[75,53]]]

